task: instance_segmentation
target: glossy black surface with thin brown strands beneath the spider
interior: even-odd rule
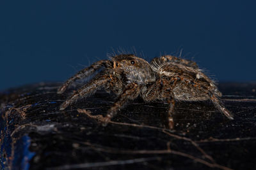
[[[99,91],[60,111],[72,93],[38,83],[0,94],[2,169],[256,169],[256,83],[221,83],[228,120],[209,101],[130,101],[102,126],[115,101]]]

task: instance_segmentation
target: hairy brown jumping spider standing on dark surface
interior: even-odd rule
[[[79,97],[90,96],[104,88],[107,92],[114,92],[117,98],[104,117],[103,125],[107,125],[127,101],[138,96],[145,102],[165,101],[169,104],[167,123],[170,129],[174,127],[175,101],[211,100],[227,118],[234,119],[220,101],[221,92],[214,81],[202,73],[196,62],[172,55],[156,57],[150,63],[133,54],[120,54],[109,60],[99,60],[69,78],[58,89],[58,94],[65,92],[75,80],[86,78],[99,69],[102,71],[68,97],[61,104],[60,110],[65,110]]]

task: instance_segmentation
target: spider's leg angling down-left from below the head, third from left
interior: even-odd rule
[[[106,117],[104,117],[103,124],[104,126],[108,125],[108,122],[113,118],[117,111],[124,106],[124,104],[130,99],[136,99],[138,95],[140,94],[140,86],[136,83],[130,83],[128,84],[122,94],[118,96],[116,99],[114,105],[108,110],[108,114]]]

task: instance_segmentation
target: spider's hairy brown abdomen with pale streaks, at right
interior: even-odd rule
[[[220,96],[214,81],[207,77],[199,68],[186,66],[182,63],[165,62],[158,69],[159,77],[173,85],[173,94],[179,101],[205,101],[209,92]]]

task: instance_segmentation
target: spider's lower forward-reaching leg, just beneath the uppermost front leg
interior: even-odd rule
[[[111,81],[111,76],[109,75],[103,75],[99,78],[95,78],[94,80],[90,81],[90,83],[87,83],[81,89],[78,89],[72,96],[68,97],[68,99],[63,102],[60,106],[60,110],[65,110],[68,105],[76,101],[79,97],[83,96],[90,96],[90,94],[93,94],[96,90],[100,89],[101,87],[106,86],[108,81]]]

